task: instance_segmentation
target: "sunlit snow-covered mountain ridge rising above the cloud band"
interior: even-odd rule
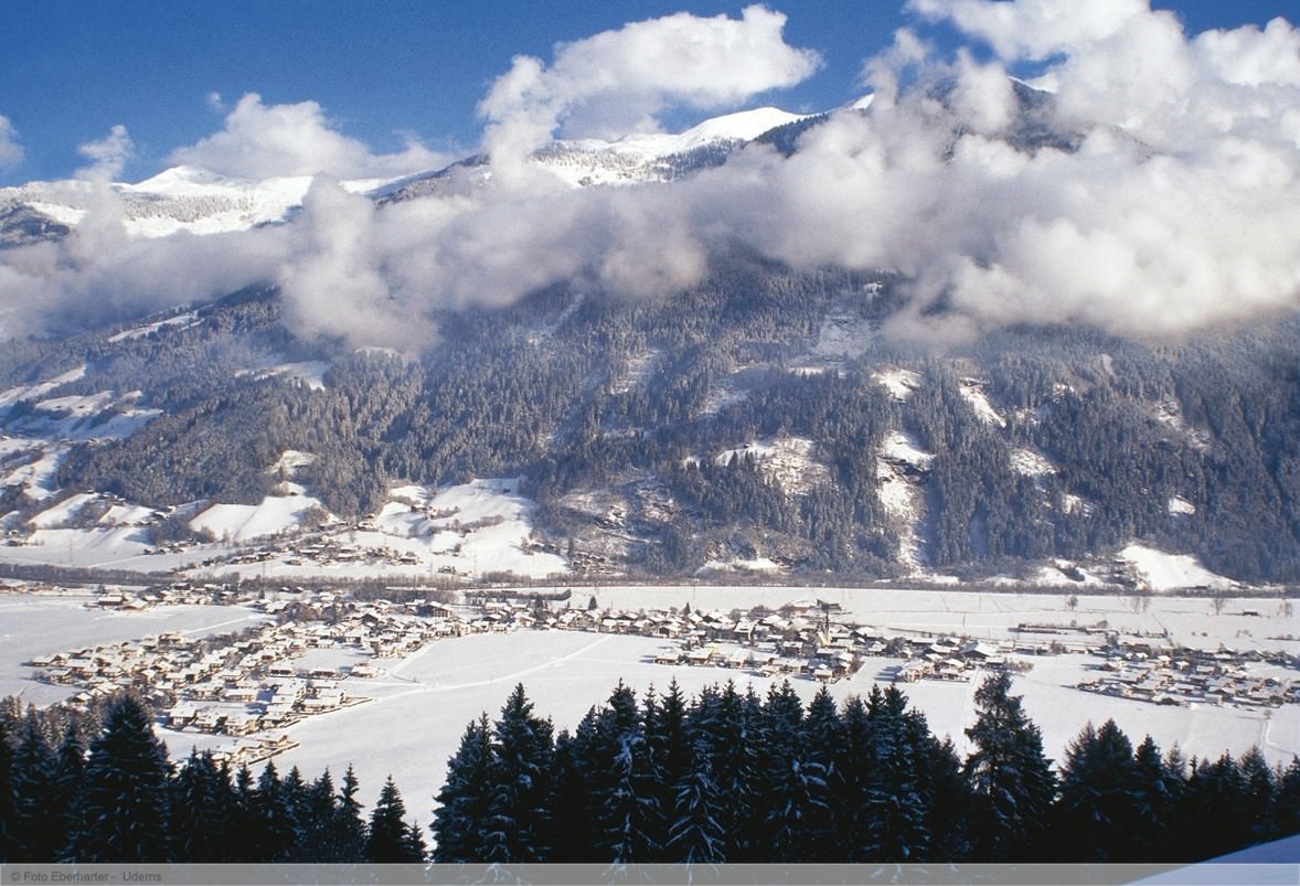
[[[573,187],[664,182],[722,164],[736,148],[801,120],[776,108],[758,108],[706,120],[679,134],[559,140],[538,151],[533,161]],[[344,181],[342,186],[378,200],[413,199],[438,192],[454,171],[482,162],[471,158],[433,173]],[[311,183],[309,175],[251,181],[198,166],[176,166],[134,184],[114,182],[107,190],[87,181],[30,182],[0,188],[0,247],[66,235],[91,209],[118,212],[130,236],[247,230],[286,221],[302,207]]]

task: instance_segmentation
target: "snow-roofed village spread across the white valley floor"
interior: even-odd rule
[[[72,686],[69,700],[130,689],[170,730],[242,739],[222,750],[256,763],[295,747],[283,730],[316,715],[364,704],[365,682],[386,676],[426,644],[476,633],[564,630],[666,640],[655,663],[711,666],[770,678],[832,683],[879,663],[878,681],[971,681],[996,669],[1028,670],[1035,659],[1082,653],[1102,676],[1075,689],[1150,704],[1279,707],[1300,704],[1300,681],[1251,676],[1249,663],[1292,670],[1300,660],[1258,651],[1176,648],[1167,638],[1121,637],[1100,625],[1020,624],[1013,638],[885,630],[849,622],[840,607],[794,600],[772,611],[682,608],[618,611],[572,591],[480,590],[415,594],[393,601],[351,590],[176,582],[150,590],[100,587],[87,605],[135,611],[177,603],[243,604],[265,621],[237,634],[191,638],[161,633],[34,656],[39,681]],[[396,596],[396,595],[394,595]]]

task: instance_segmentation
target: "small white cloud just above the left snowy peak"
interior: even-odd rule
[[[216,94],[208,101],[222,107]],[[221,131],[177,148],[168,160],[251,179],[317,174],[394,178],[447,162],[446,156],[415,140],[398,153],[372,153],[363,142],[339,133],[317,103],[266,105],[256,92],[239,99]]]

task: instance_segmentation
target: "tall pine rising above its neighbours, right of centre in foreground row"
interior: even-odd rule
[[[966,757],[974,791],[972,851],[979,861],[1034,859],[1056,794],[1043,735],[1010,695],[1005,672],[975,692],[979,717],[966,730],[975,750]]]

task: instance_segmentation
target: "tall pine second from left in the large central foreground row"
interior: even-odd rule
[[[484,860],[547,861],[552,851],[551,724],[533,716],[524,685],[495,724]]]

